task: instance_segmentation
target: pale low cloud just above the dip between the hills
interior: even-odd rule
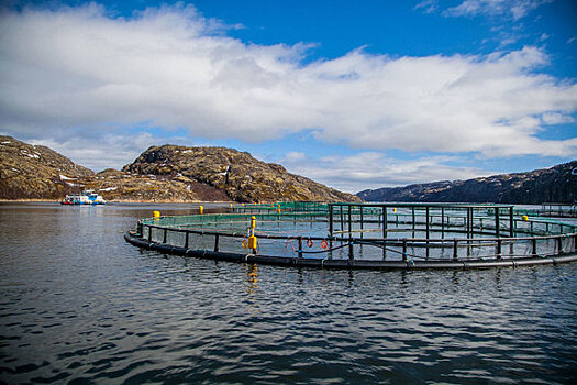
[[[446,163],[456,161],[450,156],[421,157],[400,161],[379,152],[362,152],[356,155],[325,156],[320,160],[308,156],[285,156],[282,164],[291,173],[348,193],[360,188],[404,186],[410,184],[468,179],[495,173],[474,167],[454,167]]]

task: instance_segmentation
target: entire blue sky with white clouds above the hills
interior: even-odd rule
[[[3,1],[0,133],[224,145],[346,191],[577,156],[574,0]]]

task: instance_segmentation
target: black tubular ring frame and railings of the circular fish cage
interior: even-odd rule
[[[276,206],[275,206],[276,205]],[[187,229],[179,228],[176,224],[167,224],[168,222],[177,222],[175,217],[160,217],[153,219],[140,220],[135,231],[129,231],[124,234],[125,240],[138,248],[155,250],[166,254],[176,254],[185,256],[195,256],[201,258],[209,258],[215,261],[230,262],[245,262],[268,264],[277,266],[297,266],[297,267],[320,267],[320,268],[345,268],[345,270],[430,270],[430,268],[476,268],[476,267],[517,267],[526,265],[542,265],[542,264],[558,264],[577,261],[577,227],[568,223],[556,222],[552,220],[544,220],[542,218],[515,218],[513,205],[470,205],[470,204],[349,204],[349,202],[293,202],[290,204],[275,204],[275,205],[247,205],[231,207],[228,213],[208,216],[188,216],[195,217],[195,220],[206,220],[208,218],[215,219],[246,219],[256,216],[257,218],[274,218],[276,220],[296,221],[298,218],[318,218],[319,221],[325,221],[329,227],[326,237],[312,235],[282,235],[282,234],[258,234],[259,239],[265,240],[284,240],[286,242],[295,241],[297,248],[293,246],[296,256],[267,255],[256,254],[253,252],[234,252],[231,250],[221,250],[220,241],[223,238],[243,239],[245,234],[238,231],[217,231],[211,229]],[[282,208],[281,208],[282,207]],[[413,233],[415,230],[424,230],[426,238],[390,238],[388,237],[388,224],[395,223],[399,226],[398,209],[411,210]],[[366,212],[373,210],[373,216],[380,211],[380,231],[382,237],[370,238],[365,237],[363,228],[370,221],[366,220]],[[395,212],[391,215],[392,210]],[[424,212],[424,222],[415,221],[415,210],[419,213]],[[450,215],[452,210],[457,212],[465,212],[462,218],[464,228],[461,229],[445,229],[445,220],[441,218],[441,222],[431,221],[430,213],[434,210],[441,210],[442,216]],[[492,226],[487,222],[489,217],[475,217],[476,210],[484,210],[492,216]],[[491,211],[492,210],[492,211]],[[396,213],[396,217],[395,217]],[[219,217],[220,216],[220,217]],[[346,220],[345,220],[346,218]],[[461,218],[461,217],[454,217]],[[489,219],[487,219],[489,218]],[[478,222],[480,219],[480,229]],[[485,219],[485,224],[482,222]],[[164,222],[163,222],[164,220]],[[504,220],[504,224],[503,224]],[[476,222],[477,221],[477,222]],[[167,223],[165,223],[167,222]],[[339,222],[340,226],[335,226]],[[451,222],[451,221],[448,221]],[[374,222],[373,222],[374,223]],[[519,226],[522,223],[524,227]],[[536,224],[535,224],[536,223]],[[355,226],[358,224],[360,229],[359,237],[353,237]],[[407,222],[404,222],[407,224]],[[423,227],[420,227],[423,226]],[[544,230],[541,232],[534,230],[535,227],[541,226]],[[557,233],[553,230],[557,227]],[[340,231],[336,228],[341,229]],[[442,229],[442,230],[440,230]],[[551,230],[551,231],[550,231]],[[566,230],[566,231],[564,231]],[[431,233],[439,231],[461,232],[466,238],[431,238]],[[168,242],[169,233],[184,233],[185,242],[182,244],[170,244]],[[157,237],[153,237],[155,233]],[[160,237],[158,237],[158,233]],[[518,237],[519,234],[526,234],[530,237]],[[211,248],[199,249],[198,245],[190,244],[190,234],[199,237],[209,237],[213,239]],[[493,237],[488,237],[488,235]],[[502,237],[507,234],[507,237]],[[484,238],[479,238],[482,235]],[[475,238],[477,237],[477,238]],[[156,238],[156,239],[155,239]],[[324,253],[324,251],[304,251],[304,242],[324,242],[330,243],[331,250],[347,249],[347,258],[332,258],[332,257],[308,257],[307,254]],[[531,249],[528,255],[515,256],[502,253],[504,245],[513,244],[515,242],[525,242]],[[448,249],[446,244],[451,243],[453,250],[453,257],[430,258],[430,248]],[[333,245],[336,246],[333,248]],[[382,249],[381,260],[358,260],[355,258],[355,249],[358,246],[368,245]],[[408,252],[409,248],[423,248],[426,255],[411,255]],[[544,250],[547,246],[550,250]],[[553,245],[553,246],[551,246]],[[495,248],[495,255],[484,257],[470,257],[459,255],[459,250],[466,249],[467,254],[470,248]],[[511,246],[511,251],[513,248]],[[401,254],[399,260],[387,260],[387,253]],[[332,254],[331,254],[332,255]]]

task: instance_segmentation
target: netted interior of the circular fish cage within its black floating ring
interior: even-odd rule
[[[255,217],[258,253],[278,256],[482,260],[554,255],[576,246],[575,226],[513,216],[508,205],[279,202],[230,211],[145,219],[141,237],[243,253]]]

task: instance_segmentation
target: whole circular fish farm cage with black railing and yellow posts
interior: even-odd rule
[[[143,219],[125,240],[168,254],[321,268],[577,261],[577,226],[512,205],[281,202]]]

